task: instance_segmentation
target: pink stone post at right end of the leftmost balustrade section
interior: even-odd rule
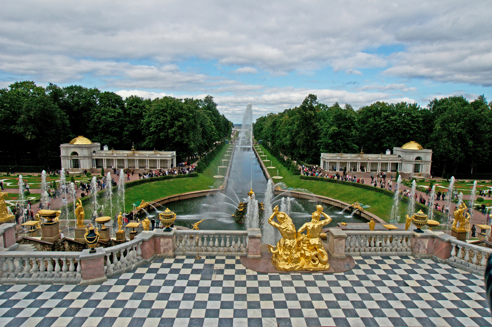
[[[83,250],[82,254],[79,256],[82,264],[81,286],[98,284],[107,280],[104,271],[104,258],[106,257],[106,252],[102,247],[98,247],[95,250],[95,253],[89,253],[88,249]]]

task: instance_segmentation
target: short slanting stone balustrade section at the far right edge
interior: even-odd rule
[[[478,274],[485,274],[487,260],[492,253],[492,249],[470,244],[451,238],[451,257],[447,259],[450,266],[461,268],[468,271],[475,271]]]

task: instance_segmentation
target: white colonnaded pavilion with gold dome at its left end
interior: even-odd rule
[[[102,167],[118,169],[167,169],[176,167],[176,151],[109,150],[78,136],[60,145],[62,168],[68,172],[98,172]]]

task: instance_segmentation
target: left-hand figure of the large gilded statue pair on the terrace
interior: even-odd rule
[[[273,221],[275,216],[277,216],[278,223]],[[274,212],[268,218],[268,223],[277,228],[280,235],[282,235],[282,238],[277,242],[276,248],[268,245],[268,251],[272,253],[272,264],[278,270],[302,270],[304,259],[301,258],[296,238],[296,227],[292,223],[292,219],[285,212],[278,211],[278,206],[276,206]]]

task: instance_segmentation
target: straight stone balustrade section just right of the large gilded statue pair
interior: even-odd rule
[[[412,231],[344,231],[345,255],[411,255]]]

